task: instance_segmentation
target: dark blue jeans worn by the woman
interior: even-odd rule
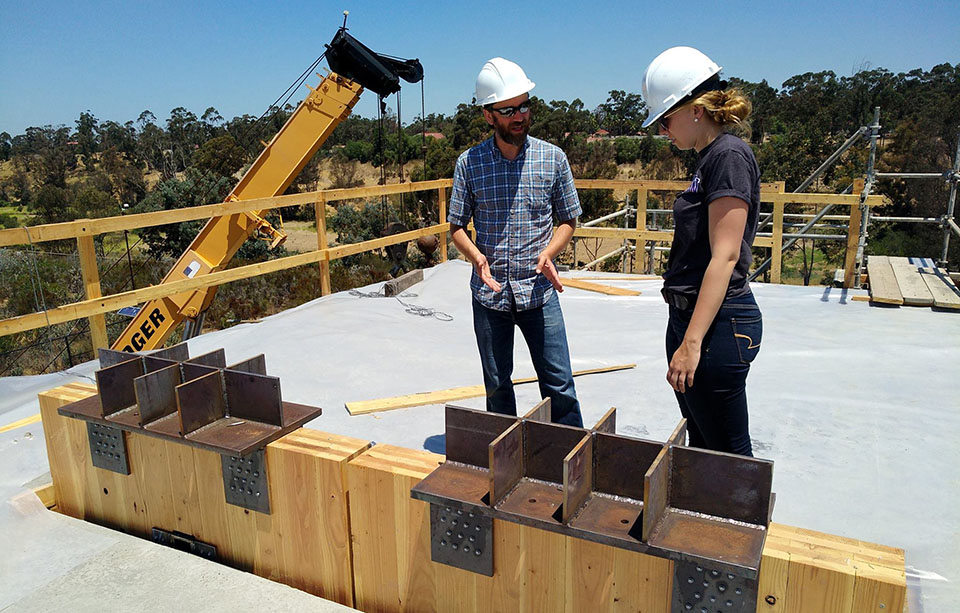
[[[670,307],[667,362],[680,347],[693,310]],[[693,385],[675,392],[691,447],[752,456],[747,373],[760,351],[763,318],[753,294],[724,301],[703,339]]]

